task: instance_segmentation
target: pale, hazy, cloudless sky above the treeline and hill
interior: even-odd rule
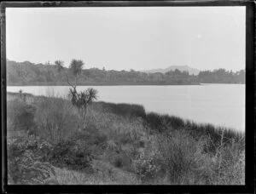
[[[245,7],[6,10],[7,58],[85,68],[245,68]]]

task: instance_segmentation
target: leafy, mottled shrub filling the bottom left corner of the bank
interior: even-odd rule
[[[54,167],[44,161],[50,151],[47,142],[24,133],[12,139],[7,151],[9,184],[47,184],[55,180]]]

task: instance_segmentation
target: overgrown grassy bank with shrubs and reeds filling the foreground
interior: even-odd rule
[[[244,134],[143,106],[8,94],[9,184],[244,184]]]

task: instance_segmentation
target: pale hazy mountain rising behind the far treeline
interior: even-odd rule
[[[189,71],[189,75],[195,75],[197,76],[199,74],[199,70],[195,68],[191,68],[189,66],[169,66],[166,69],[152,69],[152,70],[145,70],[142,72],[147,72],[147,73],[155,73],[155,72],[161,72],[161,73],[166,73],[167,71]]]

